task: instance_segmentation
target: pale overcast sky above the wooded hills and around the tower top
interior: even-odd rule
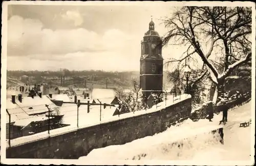
[[[159,6],[8,6],[8,70],[139,70],[140,41],[174,8]],[[169,46],[164,59],[182,51]]]

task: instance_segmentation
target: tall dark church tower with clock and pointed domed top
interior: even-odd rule
[[[162,40],[152,20],[141,41],[140,88],[146,97],[162,92],[163,88]]]

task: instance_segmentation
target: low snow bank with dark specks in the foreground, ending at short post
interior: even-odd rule
[[[208,133],[197,133],[197,135],[191,135],[186,139],[168,139],[172,137],[174,137],[174,135],[170,134],[164,140],[155,140],[156,142],[153,142],[154,144],[150,144],[150,146],[148,146],[148,144],[152,140],[150,137],[148,137],[148,139],[145,137],[144,140],[140,140],[139,146],[132,146],[132,142],[125,145],[109,146],[104,149],[94,149],[88,156],[80,157],[79,159],[92,160],[99,159],[99,157],[102,160],[140,160],[153,158],[168,160],[186,159],[188,156],[193,156],[194,153],[191,152],[191,149],[193,149],[193,151],[196,149],[200,150],[200,146],[202,146],[204,143],[210,142],[214,144],[220,144],[219,136],[217,133],[215,135]],[[147,141],[145,139],[147,139]]]

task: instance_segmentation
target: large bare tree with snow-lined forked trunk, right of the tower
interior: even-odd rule
[[[251,60],[251,8],[248,7],[181,7],[172,17],[163,19],[170,31],[163,39],[163,45],[174,39],[187,47],[179,60],[183,62],[199,56],[203,61],[202,74],[208,75],[217,86],[219,102],[224,94],[224,81],[237,67]],[[208,45],[204,48],[202,43]],[[232,52],[230,53],[230,48]],[[216,63],[210,58],[211,54],[221,51],[222,58]],[[232,61],[230,61],[230,59]],[[222,68],[221,68],[222,66]],[[221,71],[222,69],[222,71]]]

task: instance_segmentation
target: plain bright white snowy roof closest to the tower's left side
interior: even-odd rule
[[[115,91],[113,89],[93,89],[92,98],[93,99],[104,99],[115,97]]]

